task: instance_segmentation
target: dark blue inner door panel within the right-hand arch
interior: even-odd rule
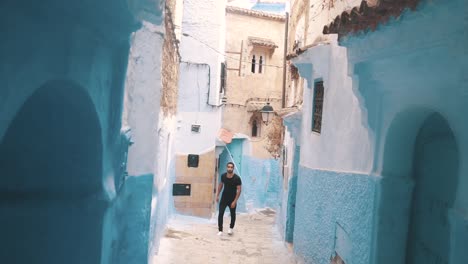
[[[406,263],[449,263],[448,211],[458,183],[458,149],[452,130],[439,114],[430,115],[419,130],[413,172]]]

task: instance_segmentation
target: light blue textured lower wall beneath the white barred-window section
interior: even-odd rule
[[[305,263],[328,264],[340,251],[347,264],[369,263],[375,189],[374,177],[300,166],[295,254]]]

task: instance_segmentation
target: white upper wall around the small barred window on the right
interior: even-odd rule
[[[336,36],[331,44],[307,50],[293,60],[307,81],[301,128],[301,165],[309,168],[369,172],[373,153],[371,135],[363,110],[348,76],[346,49],[339,47]],[[313,86],[323,80],[324,102],[321,133],[312,131]]]

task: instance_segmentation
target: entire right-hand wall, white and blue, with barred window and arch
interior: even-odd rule
[[[311,48],[297,59],[313,64],[313,78],[333,76],[324,77],[322,134],[302,131],[293,242],[306,263],[330,263],[335,251],[347,264],[466,262],[468,10],[464,0],[420,2],[341,47],[323,45],[330,56]],[[434,115],[444,121],[427,125]],[[341,122],[350,129],[334,129]],[[425,248],[407,254],[407,243]]]

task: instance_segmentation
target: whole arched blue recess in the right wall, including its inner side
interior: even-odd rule
[[[405,112],[385,147],[376,263],[449,263],[459,167],[449,124],[438,113]]]

